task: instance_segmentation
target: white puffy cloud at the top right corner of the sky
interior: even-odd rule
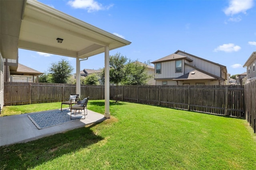
[[[229,6],[224,10],[224,13],[227,16],[240,12],[246,14],[246,10],[252,8],[252,6],[253,0],[229,0]]]

